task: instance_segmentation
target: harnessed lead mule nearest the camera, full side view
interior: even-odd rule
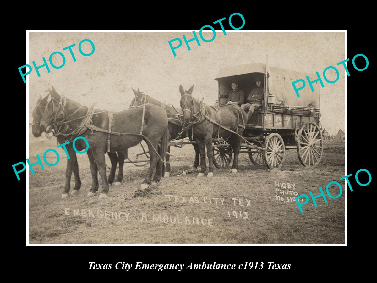
[[[98,190],[97,171],[102,179],[102,191],[100,198],[107,197],[109,184],[106,180],[106,165],[104,153],[106,151],[123,151],[137,145],[141,140],[146,140],[150,152],[150,166],[147,176],[141,184],[141,189],[146,189],[151,184],[153,171],[156,168],[152,182],[157,183],[161,179],[162,160],[169,143],[168,120],[166,112],[156,105],[147,104],[143,107],[131,108],[120,112],[101,111],[99,109],[82,106],[73,100],[61,97],[53,92],[48,98],[46,108],[41,118],[41,126],[46,132],[58,130],[68,124],[74,129],[72,137],[86,138],[89,148],[87,155],[92,172],[92,188],[88,197],[93,196]],[[113,119],[110,119],[112,114]],[[112,120],[110,124],[109,121]],[[108,134],[109,124],[111,134]],[[143,125],[143,126],[142,126]],[[92,130],[95,132],[91,134]],[[61,130],[60,130],[61,131]],[[66,134],[63,132],[62,134]],[[110,143],[108,142],[110,137]],[[161,140],[161,158],[157,153],[157,145]],[[84,140],[80,139],[83,148],[87,148]]]

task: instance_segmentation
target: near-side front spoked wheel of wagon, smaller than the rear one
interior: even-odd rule
[[[264,142],[263,159],[269,169],[281,168],[284,161],[285,144],[281,135],[273,133],[268,135]]]

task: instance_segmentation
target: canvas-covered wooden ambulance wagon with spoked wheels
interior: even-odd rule
[[[219,89],[217,104],[221,106],[227,103],[233,80],[244,91],[247,103],[248,95],[256,87],[254,80],[257,77],[264,78],[262,110],[254,111],[246,122],[243,135],[248,141],[266,150],[244,145],[240,152],[248,152],[253,164],[265,164],[273,169],[281,167],[286,149],[296,148],[303,166],[317,165],[323,150],[322,129],[319,127],[320,85],[318,82],[313,83],[313,91],[307,86],[300,91],[300,97],[297,97],[292,85],[292,82],[300,78],[308,77],[314,81],[317,75],[266,66],[263,63],[224,68],[215,78]],[[225,155],[228,160],[229,156],[226,158],[226,154],[230,155],[230,151],[225,148],[220,156]],[[227,166],[224,162],[222,164]],[[219,165],[219,162],[215,165]]]

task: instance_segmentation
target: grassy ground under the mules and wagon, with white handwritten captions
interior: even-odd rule
[[[35,154],[56,147],[53,140],[30,140],[30,159],[34,162]],[[140,146],[130,149],[129,155],[135,158],[138,152]],[[172,176],[144,192],[139,187],[147,166],[126,164],[122,184],[111,186],[109,196],[102,200],[98,195],[86,197],[92,181],[86,154],[78,156],[80,194],[61,199],[66,167],[62,154],[58,165],[46,166],[44,171],[34,167],[35,175],[30,173],[30,243],[345,242],[344,180],[340,181],[341,197],[328,198],[327,203],[317,198],[317,207],[309,201],[302,206],[303,213],[291,199],[296,193],[309,195],[309,190],[317,195],[319,186],[325,190],[327,183],[344,176],[344,144],[324,150],[316,168],[304,168],[296,150],[286,151],[283,167],[272,171],[252,165],[244,153],[240,154],[237,174],[215,168],[213,178],[197,178],[196,173]],[[172,154],[172,172],[193,164],[191,145],[172,147]],[[106,163],[110,165],[107,155]],[[100,191],[100,177],[99,181]],[[280,187],[282,183],[286,189]],[[279,190],[293,192],[286,195]],[[331,194],[339,194],[339,189],[332,186]]]

